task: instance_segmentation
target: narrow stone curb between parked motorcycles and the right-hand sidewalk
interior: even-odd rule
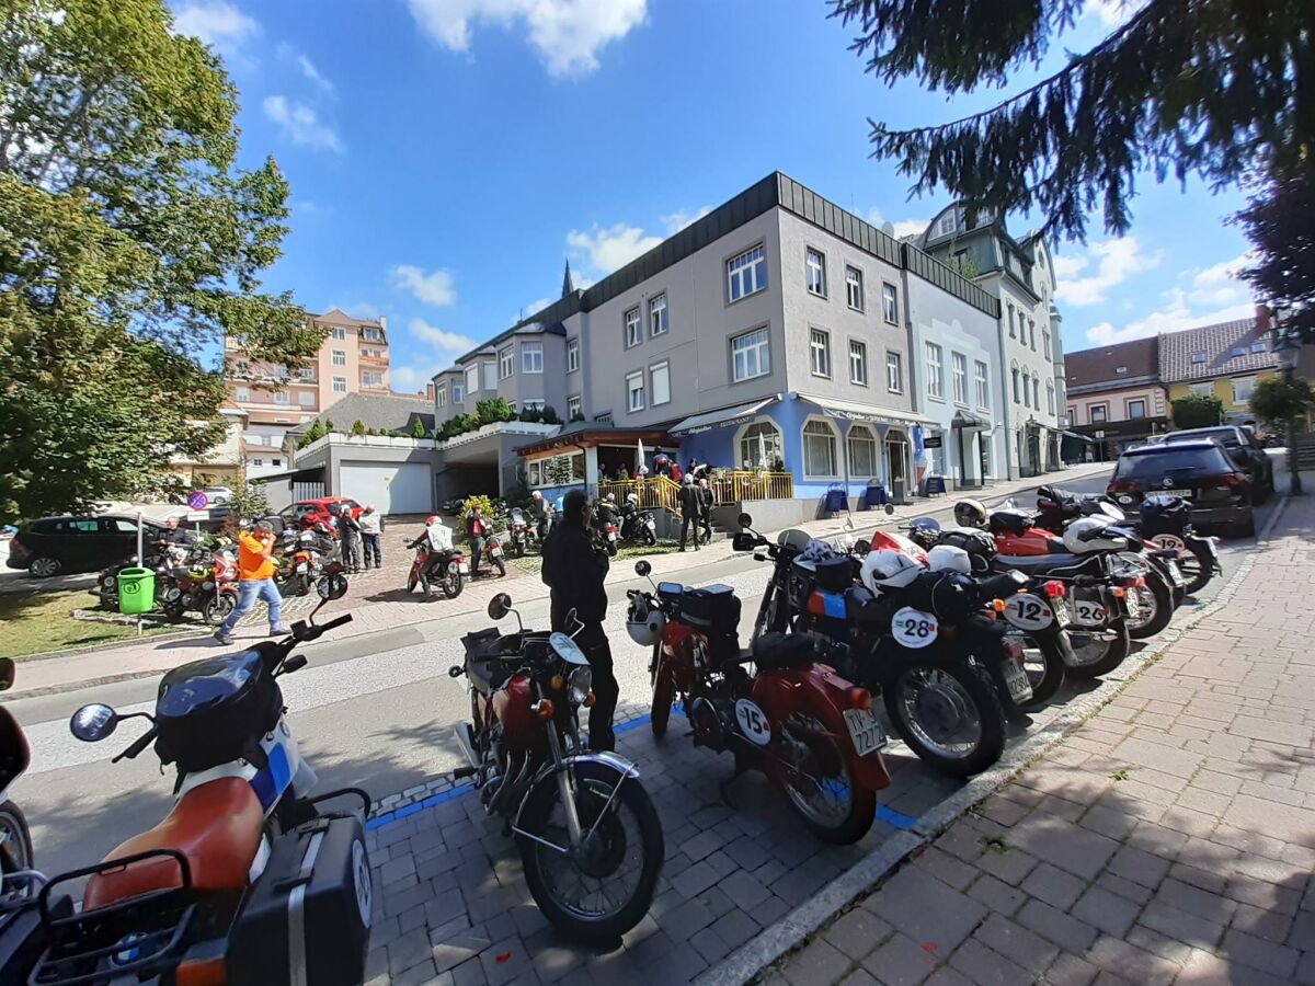
[[[1257,548],[1264,548],[1268,544],[1270,534],[1287,509],[1289,500],[1290,494],[1285,494],[1276,505],[1274,513],[1256,539]],[[1119,678],[1106,680],[1093,692],[1070,701],[1064,706],[1064,713],[1056,715],[1035,734],[1028,734],[1022,743],[1007,751],[998,764],[977,774],[964,787],[924,812],[911,831],[896,832],[809,901],[697,977],[696,986],[739,986],[752,981],[788,952],[802,945],[814,932],[859,897],[878,890],[880,883],[885,882],[913,853],[930,845],[969,807],[985,801],[1013,781],[1032,761],[1041,759],[1060,745],[1069,734],[1085,724],[1136,680],[1147,667],[1159,660],[1170,646],[1182,638],[1185,631],[1223,609],[1237,592],[1237,586],[1251,575],[1256,556],[1260,553],[1260,551],[1247,552],[1237,571],[1214,599],[1193,611],[1181,624],[1172,626],[1160,634],[1152,647],[1131,655],[1119,668],[1120,672],[1124,672]]]

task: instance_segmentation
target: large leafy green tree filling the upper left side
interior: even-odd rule
[[[262,291],[288,187],[237,167],[237,92],[163,0],[0,0],[0,521],[171,492],[225,433],[233,340],[321,334]]]

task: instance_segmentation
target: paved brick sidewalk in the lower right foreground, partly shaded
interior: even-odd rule
[[[1312,528],[767,981],[1315,983]]]

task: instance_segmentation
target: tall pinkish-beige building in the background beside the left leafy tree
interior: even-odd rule
[[[224,343],[229,396],[246,413],[242,454],[249,476],[288,468],[283,451],[288,429],[330,410],[350,393],[389,392],[387,319],[352,318],[338,309],[308,318],[326,338],[310,364],[296,372],[256,363],[237,344]]]

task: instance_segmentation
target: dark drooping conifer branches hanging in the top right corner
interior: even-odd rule
[[[1031,83],[1088,0],[832,0],[851,50],[885,84],[969,93],[1015,87],[952,122],[872,121],[877,158],[972,210],[1034,212],[1081,238],[1086,214],[1131,222],[1139,172],[1219,189],[1315,153],[1310,0],[1127,0],[1123,22]],[[948,101],[948,100],[947,100]]]

